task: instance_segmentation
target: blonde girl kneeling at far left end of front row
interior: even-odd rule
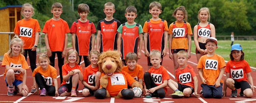
[[[4,79],[8,86],[8,96],[14,96],[18,92],[22,96],[28,95],[26,85],[27,72],[29,68],[23,54],[23,42],[18,36],[14,36],[10,42],[10,49],[4,54],[2,67],[5,67]]]

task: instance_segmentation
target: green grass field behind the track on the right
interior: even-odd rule
[[[256,40],[235,40],[234,44],[240,44],[242,46],[243,52],[245,53],[245,60],[251,67],[256,67]],[[218,49],[215,50],[215,53],[229,61],[230,45],[230,40],[218,40]],[[192,41],[191,52],[196,52],[194,41]]]

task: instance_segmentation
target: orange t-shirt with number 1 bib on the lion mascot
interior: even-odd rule
[[[103,75],[106,74],[102,73],[101,77]],[[116,96],[122,89],[127,88],[128,85],[131,86],[134,81],[136,80],[125,71],[115,72],[112,77],[108,77],[108,85],[106,89],[108,90],[110,96]],[[100,88],[102,88],[101,85]]]

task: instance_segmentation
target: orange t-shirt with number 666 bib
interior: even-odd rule
[[[34,46],[35,33],[40,31],[38,21],[33,18],[29,20],[21,19],[14,28],[14,33],[20,35],[20,38],[24,40],[23,49],[31,49]]]

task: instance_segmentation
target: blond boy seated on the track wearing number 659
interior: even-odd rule
[[[187,65],[187,60],[188,54],[186,51],[181,50],[177,53],[177,61],[180,67],[175,71],[175,76],[178,83],[172,79],[169,79],[167,85],[169,87],[175,85],[178,90],[183,92],[185,97],[190,97],[193,92],[195,93],[195,97],[200,97],[200,95],[197,93],[198,80],[196,73],[194,72],[193,67]],[[172,98],[183,97],[179,95],[177,90],[175,90],[175,93],[173,93],[171,96]]]

